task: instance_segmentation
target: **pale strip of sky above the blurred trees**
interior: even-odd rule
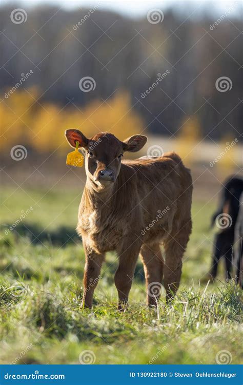
[[[13,1],[0,0],[0,4],[10,5],[13,4]],[[143,16],[152,8],[159,8],[163,11],[170,6],[174,6],[177,10],[180,8],[187,10],[191,6],[193,10],[198,8],[198,14],[201,9],[204,9],[204,11],[214,13],[218,17],[228,11],[230,7],[232,7],[230,12],[232,15],[239,15],[239,13],[242,15],[243,11],[243,0],[15,0],[14,4],[23,7],[54,4],[65,9],[76,7],[90,9],[98,5],[100,10],[113,10],[132,17]]]

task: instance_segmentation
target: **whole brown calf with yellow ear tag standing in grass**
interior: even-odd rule
[[[147,303],[157,304],[164,273],[167,299],[173,298],[181,275],[181,259],[191,233],[192,179],[174,152],[155,158],[122,161],[125,151],[138,151],[143,135],[124,142],[102,132],[87,139],[78,130],[66,130],[72,147],[85,152],[87,181],[78,210],[77,232],[86,255],[83,306],[91,307],[105,253],[116,251],[118,309],[128,301],[140,253],[144,264]],[[160,244],[164,245],[165,262]],[[153,292],[153,285],[155,291]]]

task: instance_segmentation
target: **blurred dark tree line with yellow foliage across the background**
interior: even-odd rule
[[[193,18],[190,11],[168,10],[163,22],[151,24],[146,15],[134,20],[98,8],[90,14],[89,9],[41,6],[25,8],[27,20],[15,24],[14,8],[19,5],[2,6],[0,12],[5,139],[12,140],[16,127],[26,136],[34,133],[38,146],[46,140],[37,135],[43,126],[45,135],[52,131],[59,143],[57,132],[63,128],[97,132],[114,130],[115,124],[120,139],[141,130],[177,137],[190,119],[202,138],[239,137],[242,26],[230,13],[212,28],[220,15]],[[79,87],[86,76],[95,82],[89,92]],[[226,92],[215,86],[221,76],[232,82]]]

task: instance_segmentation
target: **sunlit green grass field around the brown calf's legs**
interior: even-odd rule
[[[173,305],[162,296],[158,312],[147,309],[139,261],[130,306],[120,314],[114,254],[107,255],[92,311],[79,310],[84,252],[74,228],[82,192],[13,191],[1,195],[1,363],[240,363],[238,289],[224,281],[222,266],[208,285],[215,201],[193,203],[193,233]]]

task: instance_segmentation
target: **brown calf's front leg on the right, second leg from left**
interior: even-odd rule
[[[119,265],[115,272],[115,286],[118,292],[119,311],[124,310],[128,301],[140,247],[141,241],[139,239],[135,241],[134,239],[129,239],[118,250]]]

